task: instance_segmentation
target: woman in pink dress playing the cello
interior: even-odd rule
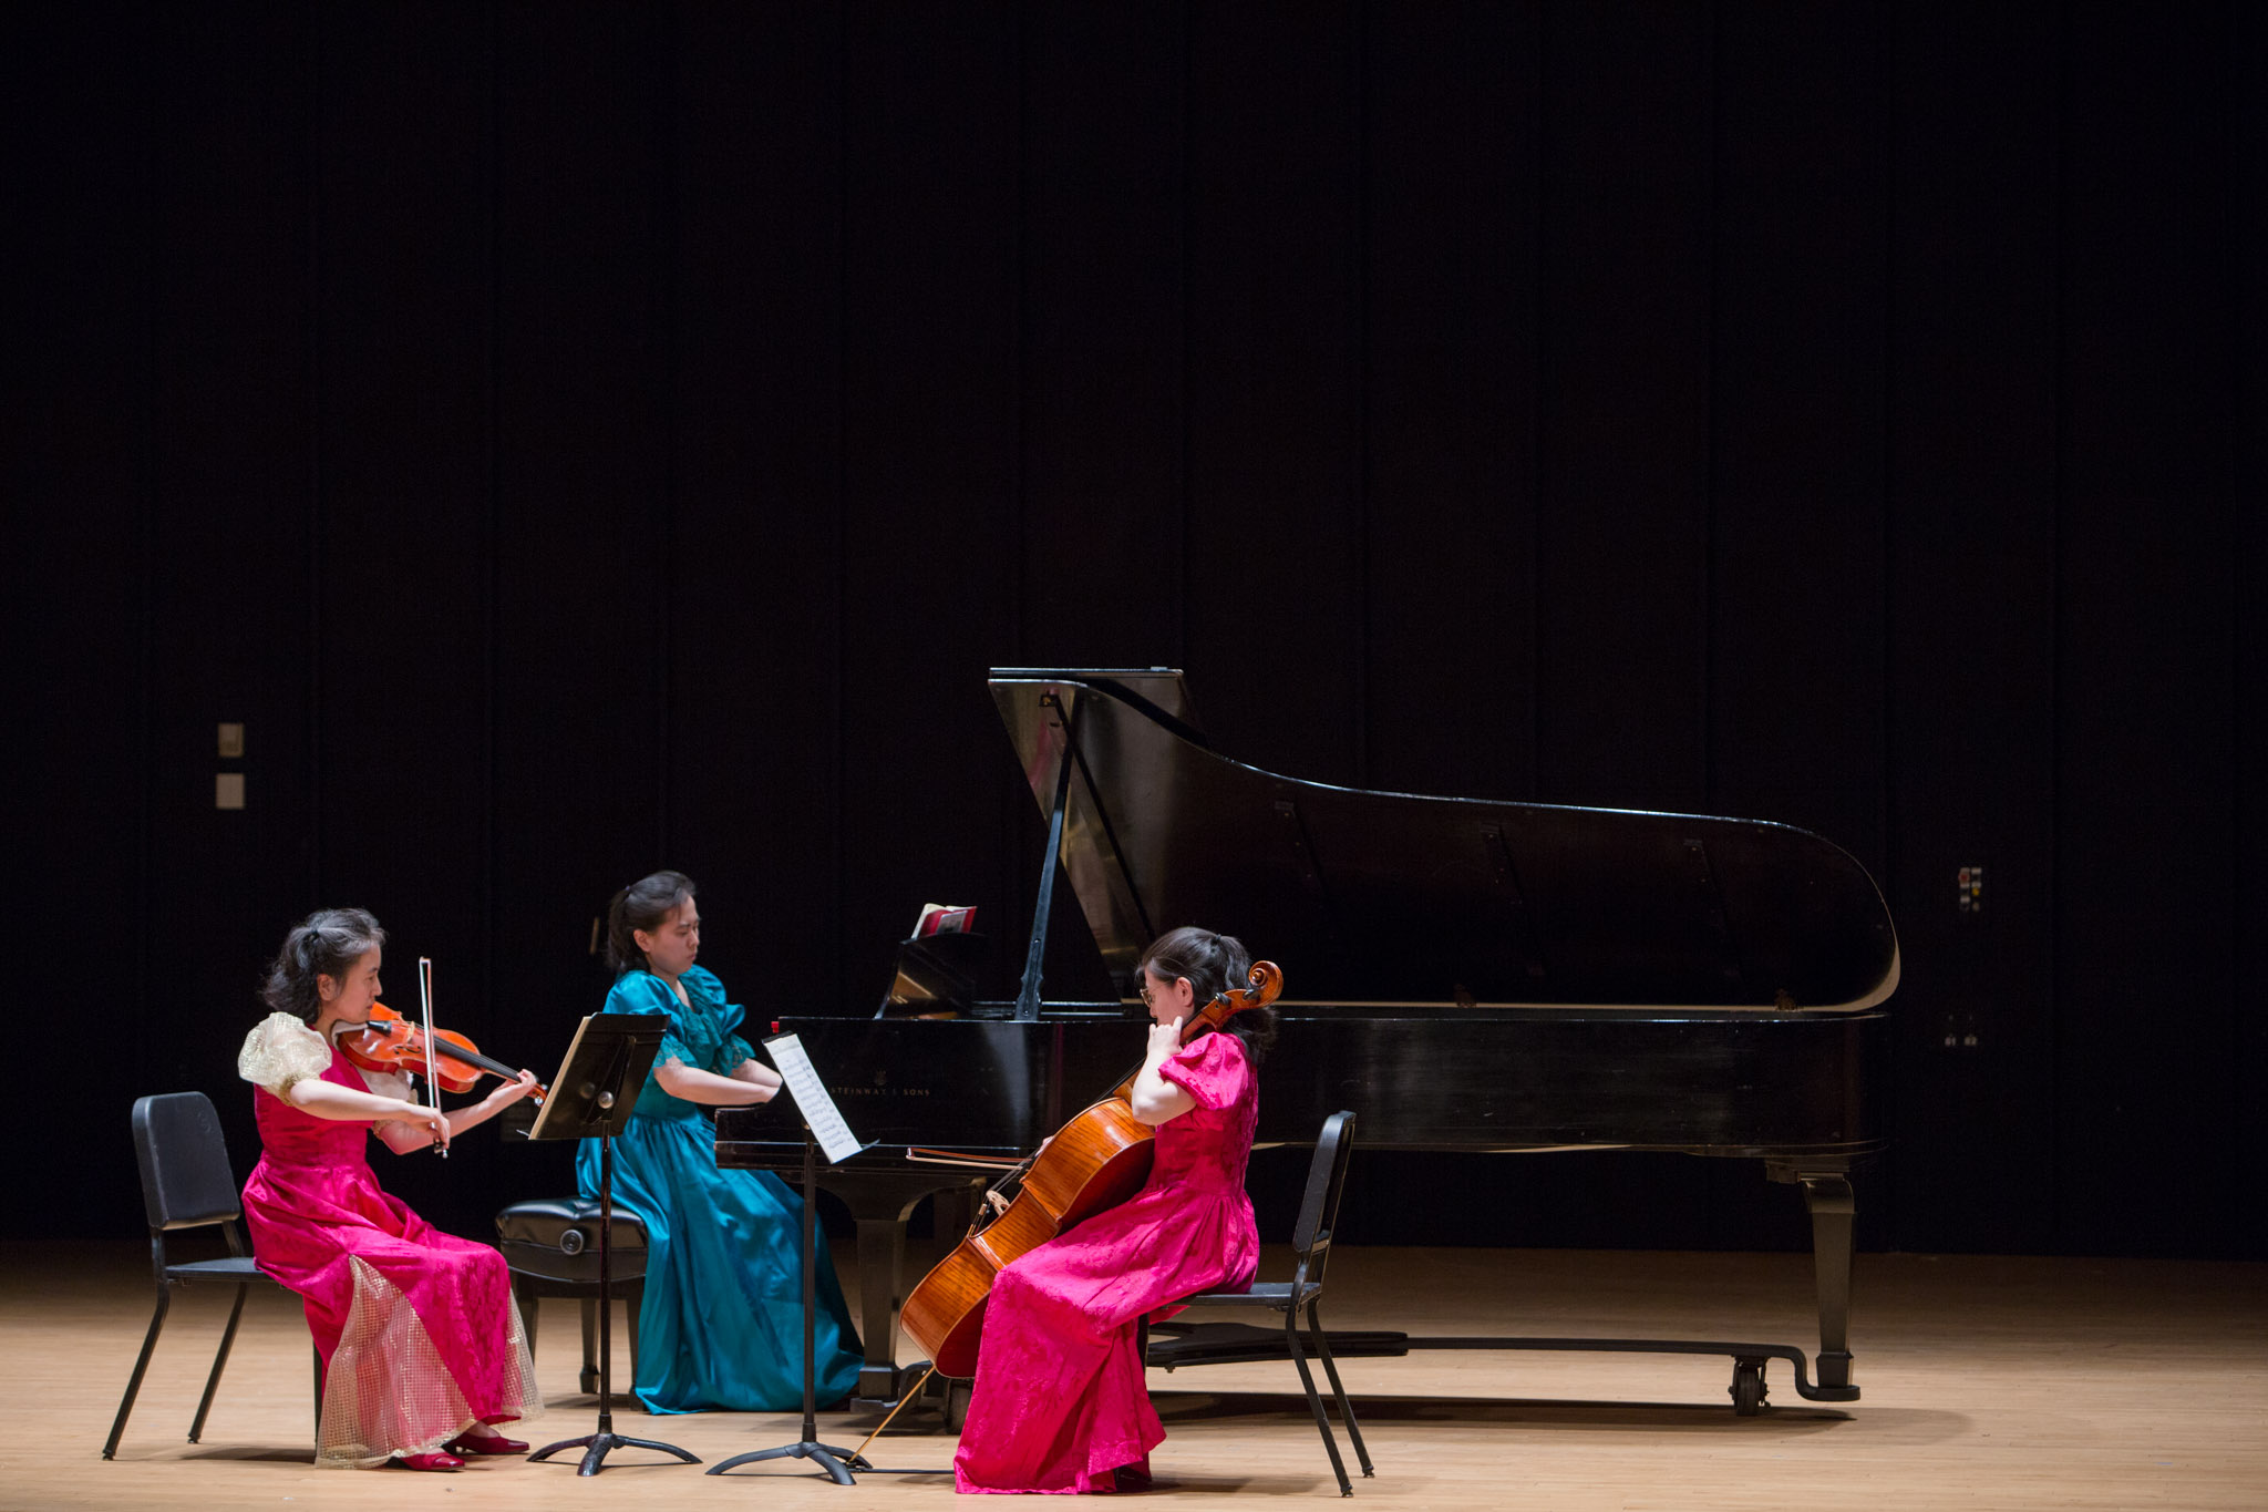
[[[953,1455],[959,1492],[1111,1492],[1150,1478],[1166,1428],[1143,1383],[1139,1319],[1191,1292],[1247,1288],[1259,1265],[1245,1161],[1275,1011],[1247,1009],[1182,1045],[1182,1025],[1250,970],[1243,945],[1207,929],[1175,929],[1143,954],[1150,1050],[1132,1102],[1157,1129],[1150,1181],[993,1279]]]

